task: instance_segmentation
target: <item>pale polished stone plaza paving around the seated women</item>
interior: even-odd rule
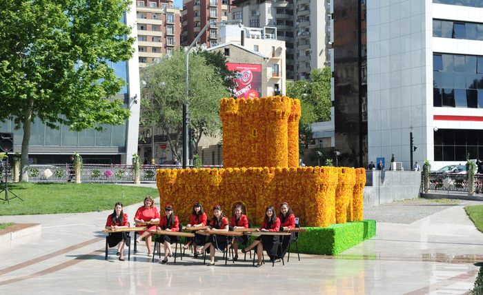
[[[155,199],[157,201],[157,199]],[[14,200],[18,201],[18,200]],[[377,235],[337,256],[290,255],[290,262],[255,268],[251,261],[213,267],[190,253],[166,265],[140,252],[104,260],[112,211],[82,214],[0,216],[0,223],[41,223],[28,243],[0,248],[0,294],[464,294],[483,261],[483,234],[466,216],[465,205],[403,201],[366,208],[381,218]],[[482,203],[483,204],[483,203]],[[124,208],[129,220],[141,203]],[[159,204],[156,204],[159,206]],[[396,206],[396,207],[394,207]],[[426,207],[433,206],[430,210]],[[404,218],[408,208],[419,215]],[[409,210],[409,211],[414,211]],[[389,213],[388,213],[389,212]],[[391,218],[392,216],[392,218]],[[174,246],[174,245],[173,245]]]

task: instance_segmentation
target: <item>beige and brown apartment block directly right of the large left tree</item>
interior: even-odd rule
[[[173,0],[137,0],[139,68],[181,45],[181,8]]]

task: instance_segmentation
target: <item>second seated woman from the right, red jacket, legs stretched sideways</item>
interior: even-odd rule
[[[275,216],[275,209],[273,206],[266,207],[265,210],[265,218],[264,223],[262,223],[262,227],[260,227],[257,232],[278,232],[280,228],[280,219]],[[253,247],[257,246],[257,256],[258,256],[258,264],[256,267],[262,266],[262,252],[264,248],[266,253],[270,257],[270,261],[275,259],[277,256],[277,249],[279,244],[279,236],[259,236],[258,238],[253,241],[253,243],[242,250],[242,253],[246,253],[250,251]]]

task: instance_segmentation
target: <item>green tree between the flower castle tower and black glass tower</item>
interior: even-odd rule
[[[331,68],[311,71],[312,81],[299,80],[287,84],[287,96],[299,99],[302,116],[299,121],[299,153],[304,154],[312,142],[312,123],[331,120]]]

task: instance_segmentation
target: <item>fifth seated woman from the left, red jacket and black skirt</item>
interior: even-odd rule
[[[228,218],[223,214],[221,211],[221,207],[216,205],[213,207],[213,218],[211,219],[210,223],[208,223],[208,228],[205,232],[217,232],[217,231],[228,231]],[[197,251],[195,254],[199,255],[199,253],[205,252],[208,249],[208,253],[210,253],[210,263],[208,266],[215,265],[215,248],[218,252],[224,252],[227,243],[227,236],[219,235],[219,234],[210,234],[210,238],[204,245],[201,251]]]

